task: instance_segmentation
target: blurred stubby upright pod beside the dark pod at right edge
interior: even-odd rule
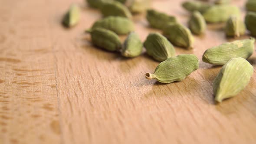
[[[243,21],[236,16],[230,16],[230,18],[226,22],[226,36],[239,37],[240,35],[244,35],[245,31],[246,26]]]

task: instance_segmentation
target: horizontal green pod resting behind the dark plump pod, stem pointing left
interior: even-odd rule
[[[93,24],[92,29],[97,27],[111,30],[116,34],[128,34],[135,29],[130,19],[120,16],[108,16],[102,20],[98,20]]]

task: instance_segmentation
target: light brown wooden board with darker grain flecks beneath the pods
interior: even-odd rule
[[[186,24],[181,1],[153,7]],[[244,2],[234,0],[243,13]],[[82,20],[65,29],[71,3],[82,7]],[[158,62],[146,54],[124,59],[91,45],[83,31],[101,14],[83,0],[0,0],[0,13],[0,144],[256,144],[255,70],[237,97],[216,104],[212,82],[221,67],[200,61],[183,82],[149,81],[144,73]],[[158,31],[144,15],[134,21],[143,41]],[[177,54],[201,60],[232,41],[221,26],[208,25],[193,50]],[[256,69],[256,52],[248,60]]]

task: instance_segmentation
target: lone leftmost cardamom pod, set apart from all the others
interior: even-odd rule
[[[80,9],[77,5],[72,4],[69,11],[65,14],[62,24],[66,27],[75,26],[80,20]]]

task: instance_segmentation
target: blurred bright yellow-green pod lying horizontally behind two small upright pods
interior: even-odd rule
[[[209,23],[226,22],[232,15],[239,17],[240,10],[229,4],[215,5],[203,13],[204,19]]]

